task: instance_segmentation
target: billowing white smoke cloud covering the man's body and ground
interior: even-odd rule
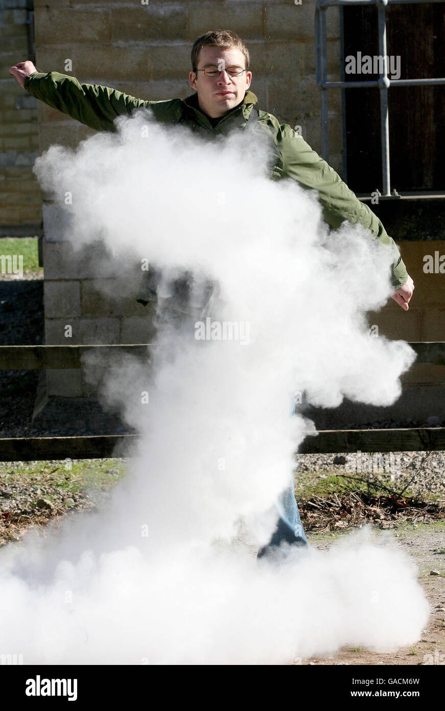
[[[185,317],[160,328],[150,366],[110,366],[104,397],[141,432],[131,471],[99,513],[2,550],[0,651],[25,663],[267,664],[415,641],[428,606],[391,540],[362,531],[281,563],[253,548],[314,431],[290,418],[292,393],[324,407],[400,395],[414,353],[370,338],[366,321],[391,293],[393,255],[360,226],[329,234],[316,193],[265,176],[253,135],[209,143],[143,112],[118,123],[36,162],[55,201],[72,193],[66,237],[84,250],[103,240],[123,269],[143,258],[162,269],[160,318],[172,277],[193,273],[195,304],[210,279],[211,317],[248,324],[249,338],[199,341],[199,319]]]

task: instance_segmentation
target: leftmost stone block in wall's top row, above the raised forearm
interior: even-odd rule
[[[79,43],[103,43],[111,40],[110,13],[102,8],[89,9],[54,8],[48,6],[35,9],[35,43],[43,45],[65,45]]]

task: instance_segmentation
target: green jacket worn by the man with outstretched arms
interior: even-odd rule
[[[184,123],[193,131],[209,136],[227,134],[234,128],[243,129],[257,97],[247,91],[241,104],[224,114],[212,127],[209,118],[199,109],[197,94],[187,99],[144,101],[123,92],[97,84],[80,84],[75,77],[58,72],[34,72],[26,77],[24,87],[30,94],[55,109],[96,131],[116,131],[114,119],[121,114],[131,114],[134,109],[150,107],[156,120],[163,124]],[[293,131],[288,124],[280,124],[273,114],[259,111],[258,124],[264,127],[276,146],[275,165],[270,177],[294,178],[305,188],[315,188],[319,193],[323,217],[332,228],[339,228],[344,220],[361,223],[382,244],[395,249],[392,266],[392,286],[402,287],[408,274],[395,242],[385,231],[376,215],[361,203],[349,190],[338,173]]]

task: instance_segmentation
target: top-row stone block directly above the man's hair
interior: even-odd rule
[[[208,30],[231,26],[244,40],[263,37],[263,3],[201,2],[189,9],[189,22],[184,36],[191,42]],[[191,49],[191,48],[190,48]]]

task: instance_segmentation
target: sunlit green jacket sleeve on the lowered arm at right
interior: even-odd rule
[[[334,229],[344,220],[372,232],[381,244],[394,250],[392,265],[392,286],[399,289],[408,278],[407,269],[394,240],[388,235],[383,224],[368,205],[358,200],[339,174],[329,166],[312,148],[287,124],[280,126],[277,136],[278,148],[282,156],[285,175],[294,178],[306,188],[314,188],[319,193],[323,217]]]

